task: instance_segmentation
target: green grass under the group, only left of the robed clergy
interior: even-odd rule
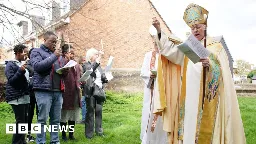
[[[142,94],[108,92],[107,101],[103,105],[102,125],[105,137],[94,136],[88,140],[84,135],[85,126],[77,124],[74,133],[77,141],[69,141],[67,144],[140,144],[141,108]],[[15,123],[15,119],[11,107],[6,103],[0,103],[0,119],[0,144],[10,144],[12,135],[6,134],[5,124]],[[59,135],[61,138],[61,133]],[[47,133],[47,143],[49,140]]]

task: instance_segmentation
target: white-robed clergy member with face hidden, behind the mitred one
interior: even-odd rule
[[[163,121],[161,116],[154,121],[156,117],[153,114],[154,98],[158,93],[156,76],[151,73],[151,70],[157,68],[158,65],[158,48],[155,42],[154,50],[145,54],[144,62],[141,68],[141,77],[144,81],[144,98],[141,119],[141,134],[140,139],[142,144],[167,144],[167,133],[163,130]],[[150,80],[151,79],[151,80]],[[150,81],[153,86],[150,86]],[[150,83],[150,84],[149,84]]]

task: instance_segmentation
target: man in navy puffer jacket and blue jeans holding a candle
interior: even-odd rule
[[[50,125],[59,127],[61,117],[61,107],[63,103],[62,92],[65,85],[62,75],[68,72],[64,70],[62,74],[57,73],[57,69],[63,67],[65,59],[60,56],[60,44],[57,44],[57,36],[48,31],[44,34],[44,44],[40,48],[35,48],[31,52],[31,63],[34,68],[33,90],[35,92],[38,105],[38,123],[41,124],[41,133],[37,134],[36,143],[46,143],[44,126],[48,116]],[[51,144],[59,144],[58,132],[50,132]]]

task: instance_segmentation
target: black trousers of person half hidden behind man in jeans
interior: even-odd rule
[[[36,115],[38,116],[38,107],[36,104],[35,93],[31,92],[30,93],[30,104],[28,105],[28,132],[29,132],[29,134],[31,132],[31,123],[32,123],[33,117],[34,117],[35,107],[36,107]]]

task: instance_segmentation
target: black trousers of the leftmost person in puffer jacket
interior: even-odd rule
[[[16,134],[13,134],[12,144],[26,143],[25,134],[18,134],[18,124],[28,122],[28,104],[11,104],[16,119]]]

